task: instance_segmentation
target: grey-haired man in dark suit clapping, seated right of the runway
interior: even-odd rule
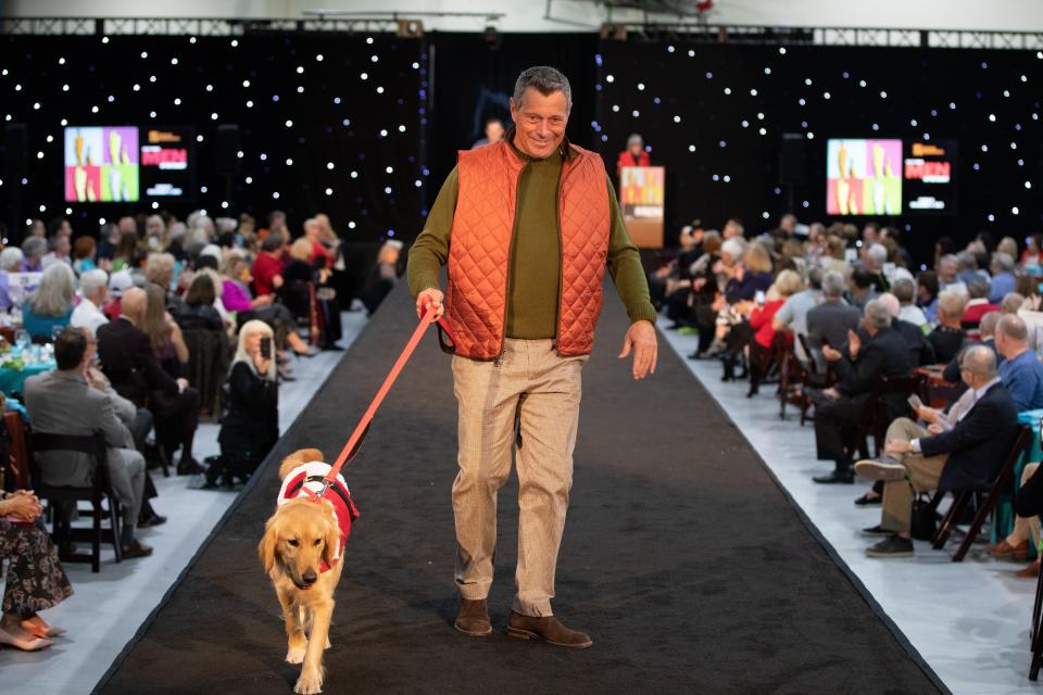
[[[874,300],[866,304],[862,326],[869,336],[865,345],[854,331],[849,331],[846,355],[829,345],[822,348],[822,355],[832,364],[839,381],[812,396],[815,444],[818,459],[832,460],[835,468],[827,476],[814,478],[815,482],[854,482],[847,446],[872,387],[880,377],[904,376],[913,367],[905,340],[891,328],[891,313],[884,302]],[[897,406],[889,404],[891,408]]]

